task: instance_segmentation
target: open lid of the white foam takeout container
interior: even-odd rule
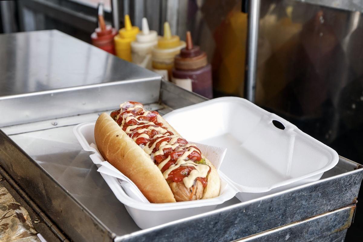
[[[268,192],[321,177],[339,160],[334,149],[243,98],[215,98],[171,111],[164,119],[187,140],[228,148],[220,171],[240,192]]]

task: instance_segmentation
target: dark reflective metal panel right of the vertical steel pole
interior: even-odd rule
[[[362,13],[296,1],[264,4],[256,103],[327,144],[360,127]]]

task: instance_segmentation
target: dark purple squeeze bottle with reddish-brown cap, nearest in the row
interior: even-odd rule
[[[212,68],[207,54],[194,45],[190,32],[187,32],[187,47],[175,57],[172,82],[206,98],[213,98]]]

